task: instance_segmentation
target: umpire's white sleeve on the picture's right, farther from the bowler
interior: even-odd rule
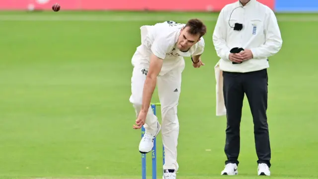
[[[263,45],[251,48],[254,59],[263,59],[275,55],[282,47],[283,40],[274,12],[268,9],[265,19],[266,41]]]

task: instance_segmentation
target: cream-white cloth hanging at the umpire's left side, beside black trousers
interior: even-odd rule
[[[222,70],[219,68],[220,61],[215,65],[215,79],[217,81],[216,85],[216,115],[222,116],[227,114],[227,110],[224,103],[224,96],[223,96],[223,74]]]

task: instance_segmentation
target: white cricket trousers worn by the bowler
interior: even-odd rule
[[[161,103],[161,135],[165,150],[165,164],[163,165],[163,170],[178,170],[179,168],[177,163],[177,143],[179,135],[177,105],[181,91],[181,73],[183,69],[184,66],[176,68],[163,76],[158,76],[157,79],[159,101]],[[147,68],[135,66],[131,79],[132,94],[130,96],[130,102],[136,110],[136,116],[138,116],[141,110],[143,89],[146,80],[144,70],[148,71]],[[144,125],[145,130],[156,131],[157,121],[158,118],[154,115],[151,106],[149,106],[146,123]]]

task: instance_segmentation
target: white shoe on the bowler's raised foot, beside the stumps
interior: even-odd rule
[[[139,152],[142,154],[149,153],[154,147],[154,140],[159,134],[161,125],[157,122],[157,129],[154,133],[150,133],[147,130],[145,131],[144,137],[139,143]]]

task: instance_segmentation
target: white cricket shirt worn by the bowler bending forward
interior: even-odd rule
[[[166,21],[155,25],[144,25],[141,29],[142,44],[137,48],[135,57],[132,59],[134,65],[141,65],[149,68],[150,56],[152,53],[163,59],[159,75],[175,69],[184,68],[183,57],[190,57],[202,54],[204,51],[204,39],[193,45],[187,52],[181,52],[176,48],[176,42],[180,35],[181,28],[185,24]]]

